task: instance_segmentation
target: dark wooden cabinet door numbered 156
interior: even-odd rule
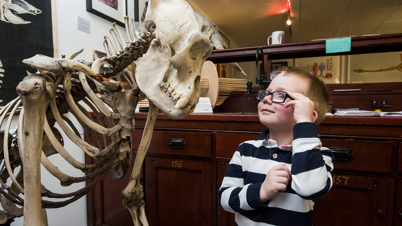
[[[212,225],[212,162],[150,156],[145,161],[150,226]]]

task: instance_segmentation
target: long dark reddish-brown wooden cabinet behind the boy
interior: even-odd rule
[[[146,117],[136,114],[134,150]],[[264,129],[252,114],[191,114],[179,120],[158,114],[143,167],[150,226],[234,226],[234,214],[219,203],[219,187],[238,145]],[[402,118],[332,116],[318,132],[323,146],[350,150],[352,157],[334,162],[333,187],[316,201],[314,225],[402,226]],[[169,145],[171,139],[182,141]],[[88,195],[88,222],[96,222],[88,225],[130,225],[121,204],[126,181],[107,179]]]

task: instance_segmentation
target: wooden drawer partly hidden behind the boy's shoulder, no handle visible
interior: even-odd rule
[[[259,134],[216,133],[216,157],[232,158],[238,146],[248,140],[255,140]]]

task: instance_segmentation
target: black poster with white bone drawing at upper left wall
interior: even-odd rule
[[[15,87],[27,76],[27,71],[37,72],[23,64],[24,59],[36,54],[57,58],[55,13],[54,0],[10,1],[2,6],[0,106],[18,97]]]

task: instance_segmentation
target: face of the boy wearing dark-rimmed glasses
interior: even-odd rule
[[[304,94],[304,87],[306,81],[294,76],[277,75],[269,84],[267,90],[269,92],[283,91],[283,92],[297,92]],[[267,126],[269,129],[292,129],[296,125],[293,117],[293,106],[284,107],[284,105],[291,101],[286,98],[285,103],[273,103],[271,101],[272,95],[268,95],[263,101],[258,103],[258,117],[260,122]]]

